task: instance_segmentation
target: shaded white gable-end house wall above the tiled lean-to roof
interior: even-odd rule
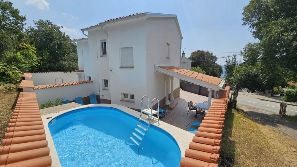
[[[175,18],[148,18],[147,27],[147,94],[151,99],[165,97],[165,79],[168,75],[154,72],[154,64],[166,64],[179,67],[181,55],[181,37]],[[170,44],[170,58],[166,56],[166,43]],[[173,90],[179,87],[175,78]]]

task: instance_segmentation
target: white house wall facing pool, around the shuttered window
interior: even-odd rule
[[[108,28],[110,96],[112,104],[140,109],[146,90],[146,20],[133,19]],[[133,47],[134,68],[120,68],[120,48]],[[121,93],[132,93],[135,102],[121,101]]]

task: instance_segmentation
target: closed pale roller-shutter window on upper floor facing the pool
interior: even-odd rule
[[[121,68],[133,68],[133,47],[122,47],[120,53]]]

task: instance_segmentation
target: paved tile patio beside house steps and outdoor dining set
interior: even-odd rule
[[[190,93],[184,90],[180,90],[180,97],[176,98],[178,101],[177,106],[173,110],[167,110],[167,115],[161,119],[161,121],[166,122],[170,125],[176,126],[181,129],[186,129],[187,125],[191,122],[201,122],[202,115],[197,115],[195,120],[194,112],[191,111],[187,115],[189,110],[188,102],[193,101],[193,103],[203,103],[208,101],[208,97]],[[211,99],[214,100],[213,98]],[[199,117],[198,117],[199,116]],[[198,128],[197,126],[188,126],[188,128]]]

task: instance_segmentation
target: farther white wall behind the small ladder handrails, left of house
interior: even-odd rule
[[[67,82],[77,82],[79,81],[79,77],[75,73],[71,72],[42,72],[42,73],[31,73],[32,80],[34,85],[48,85],[55,84],[55,78],[58,78],[60,82],[60,78],[63,79],[63,83]],[[62,82],[61,79],[61,82]]]

